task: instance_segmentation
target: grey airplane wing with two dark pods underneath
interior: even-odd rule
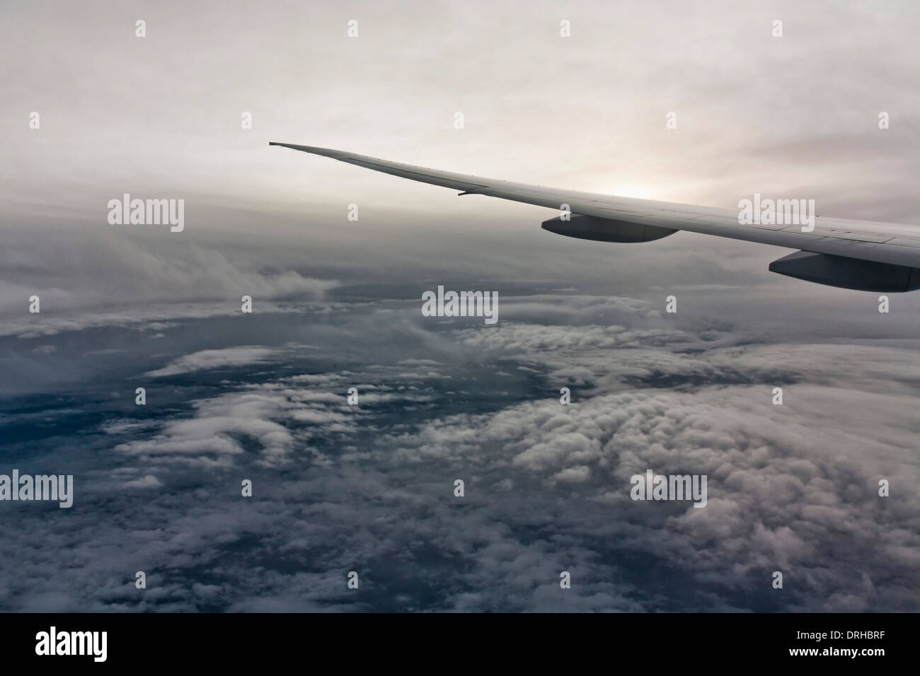
[[[560,216],[544,222],[543,227],[559,235],[634,243],[660,239],[685,230],[799,249],[797,253],[774,261],[769,269],[801,280],[860,291],[904,292],[920,288],[920,225],[824,216],[814,218],[811,232],[802,232],[799,224],[742,225],[737,209],[546,188],[406,165],[312,145],[269,145],[325,155],[385,174],[461,190],[461,195],[486,195],[555,209]],[[568,210],[564,205],[568,205]]]

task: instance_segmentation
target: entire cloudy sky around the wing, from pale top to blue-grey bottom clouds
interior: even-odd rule
[[[0,501],[0,608],[920,609],[920,295],[268,145],[920,224],[918,30],[893,1],[0,3],[0,473],[76,490]],[[184,229],[109,223],[124,193]],[[498,323],[422,315],[438,285]],[[630,499],[649,468],[706,508]]]

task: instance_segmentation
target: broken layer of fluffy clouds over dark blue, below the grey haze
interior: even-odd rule
[[[152,416],[103,408],[83,428],[75,506],[17,512],[0,565],[6,580],[28,570],[29,591],[7,583],[0,603],[920,607],[914,342],[757,341],[743,327],[677,325],[649,302],[616,297],[520,296],[496,327],[385,303],[385,332],[379,305],[362,302],[311,315],[299,342],[138,364],[141,376],[171,369],[163,383],[190,405]],[[281,335],[292,316],[304,315],[265,321]],[[343,351],[349,340],[363,349]],[[44,448],[42,462],[64,462],[55,444]],[[647,470],[706,475],[706,506],[633,500],[631,477]],[[245,479],[252,498],[242,497]],[[345,585],[352,570],[357,591]]]

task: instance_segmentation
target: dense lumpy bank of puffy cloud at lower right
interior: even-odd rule
[[[536,518],[528,513],[535,496],[564,498],[542,528],[603,533],[628,552],[604,560],[608,579],[628,577],[622,568],[633,557],[651,556],[726,597],[762,596],[779,570],[788,598],[777,601],[788,609],[915,608],[920,472],[907,453],[916,430],[892,420],[898,397],[800,387],[807,403],[775,407],[769,392],[629,390],[569,407],[547,400],[438,420],[400,445],[407,460],[475,467],[483,500],[502,487],[522,490],[505,515],[522,526]],[[840,407],[860,408],[859,424],[842,427],[832,415]],[[867,429],[889,432],[873,439]],[[706,507],[634,502],[630,477],[647,470],[707,475]],[[880,478],[897,489],[894,510],[892,498],[879,497]],[[603,507],[584,509],[592,501]]]

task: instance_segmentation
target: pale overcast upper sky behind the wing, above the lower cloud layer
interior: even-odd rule
[[[911,2],[7,2],[4,15],[0,307],[13,314],[27,292],[63,311],[236,298],[268,274],[270,294],[266,270],[292,269],[305,292],[314,277],[398,270],[838,297],[768,273],[787,250],[692,234],[597,246],[541,231],[546,209],[458,200],[269,141],[712,206],[800,195],[822,215],[917,222]],[[185,231],[109,225],[125,192],[185,199]]]

